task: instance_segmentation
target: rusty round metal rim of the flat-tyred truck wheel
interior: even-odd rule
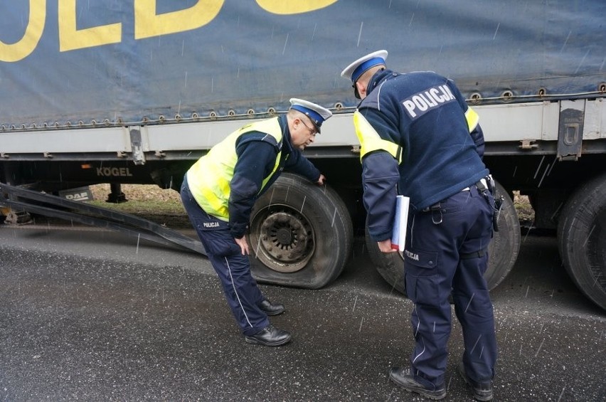
[[[307,218],[285,205],[272,205],[255,214],[250,244],[267,268],[280,273],[302,270],[316,248],[314,230]]]

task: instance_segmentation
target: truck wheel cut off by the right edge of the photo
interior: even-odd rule
[[[566,202],[558,249],[573,282],[606,310],[606,174],[587,181]]]

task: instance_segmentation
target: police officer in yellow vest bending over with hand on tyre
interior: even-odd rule
[[[324,175],[301,151],[332,115],[306,100],[290,102],[285,115],[245,125],[216,144],[191,166],[181,186],[181,200],[245,341],[268,347],[286,344],[291,336],[267,319],[285,307],[267,300],[250,274],[245,237],[250,212],[283,169],[324,184]]]

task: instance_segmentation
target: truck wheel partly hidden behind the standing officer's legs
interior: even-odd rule
[[[511,197],[499,183],[496,183],[496,194],[497,196],[502,194],[504,202],[499,218],[499,231],[494,232],[494,237],[490,242],[490,260],[488,269],[484,273],[489,290],[494,289],[509,274],[511,268],[514,267],[514,263],[516,263],[520,250],[520,223],[514,201],[511,201]],[[376,241],[368,236],[368,228],[366,229],[366,247],[378,273],[395,290],[406,295],[403,255],[401,253],[381,253]]]

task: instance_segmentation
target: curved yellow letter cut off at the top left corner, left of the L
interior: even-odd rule
[[[46,0],[29,0],[26,31],[16,43],[0,41],[0,61],[14,62],[26,58],[38,46],[46,22]]]

